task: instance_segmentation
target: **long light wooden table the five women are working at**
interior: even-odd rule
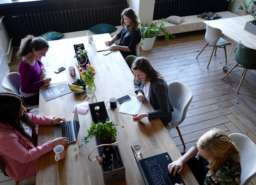
[[[107,40],[107,39],[106,39]],[[104,56],[102,52],[96,52],[93,46],[88,43],[85,37],[77,37],[72,39],[57,40],[49,42],[49,51],[46,57],[42,58],[48,75],[54,74],[54,69],[61,66],[66,68],[61,72],[65,74],[68,83],[72,83],[79,78],[76,70],[76,77],[68,74],[68,66],[74,66],[76,58],[74,44],[83,43],[88,50],[90,63],[95,66],[95,97],[88,98],[86,93],[77,94],[71,92],[59,98],[45,101],[40,94],[39,114],[48,116],[63,116],[67,120],[73,119],[74,114],[71,111],[74,105],[84,101],[89,103],[101,102],[109,100],[111,97],[119,98],[123,95],[133,95],[133,74],[125,63],[119,51]],[[61,74],[60,73],[60,74]],[[63,76],[63,75],[62,75]],[[43,86],[41,88],[46,88]],[[159,153],[168,152],[172,160],[177,160],[181,154],[176,145],[172,141],[169,133],[161,123],[160,119],[151,122],[143,119],[145,126],[137,122],[133,122],[132,115],[120,114],[118,110],[120,104],[117,103],[116,109],[106,107],[109,118],[114,122],[124,125],[123,129],[117,129],[117,142],[122,160],[125,166],[125,176],[123,180],[113,183],[115,185],[142,185],[144,181],[139,172],[139,168],[134,159],[130,145],[133,140],[142,140],[142,158],[153,156]],[[150,103],[142,104],[141,112],[153,110]],[[71,149],[82,144],[81,139],[87,134],[87,129],[92,121],[90,111],[85,116],[79,115],[80,130],[76,143],[71,143],[65,148],[66,157],[58,162],[54,161],[54,152],[51,151],[38,159],[36,185],[103,185],[103,173],[98,162],[89,161],[88,154],[96,146],[93,139],[80,151],[74,152]],[[53,139],[53,129],[51,126],[39,126],[38,128],[38,145]],[[90,158],[98,155],[95,150]],[[167,166],[166,166],[167,168]],[[192,172],[187,165],[184,166],[181,176],[187,185],[197,185]]]

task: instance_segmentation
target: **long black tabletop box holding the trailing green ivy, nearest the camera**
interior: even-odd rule
[[[98,111],[95,110],[96,106],[98,106]],[[93,122],[97,123],[98,121],[100,121],[99,119],[103,119],[103,121],[106,121],[106,119],[109,118],[104,102],[92,103],[89,104],[89,107]],[[100,116],[96,114],[97,112],[100,114]],[[103,144],[100,140],[97,140],[97,138],[96,142],[97,145]],[[115,141],[112,140],[112,143],[114,142]],[[103,153],[106,155],[106,158],[101,164],[104,182],[108,183],[114,182],[116,180],[125,179],[125,166],[123,164],[123,160],[119,152],[118,146],[101,146],[98,147],[98,151],[100,156],[102,156]],[[110,159],[112,159],[111,154],[113,154],[114,169],[109,168],[109,166],[111,166],[109,162]]]

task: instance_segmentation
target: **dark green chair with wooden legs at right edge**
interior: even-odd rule
[[[235,59],[237,61],[237,64],[234,65],[221,79],[224,79],[235,67],[237,67],[239,64],[241,66],[238,67],[243,67],[245,68],[244,71],[242,72],[242,79],[240,81],[240,84],[237,88],[237,94],[238,91],[240,90],[240,87],[242,85],[242,81],[245,78],[245,74],[248,69],[256,69],[256,50],[252,48],[248,48],[247,46],[243,45],[241,40],[238,42],[237,46],[237,52],[235,55]]]

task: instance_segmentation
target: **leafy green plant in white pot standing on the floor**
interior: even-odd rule
[[[155,24],[142,24],[141,31],[142,31],[142,43],[141,48],[142,50],[151,50],[154,42],[156,41],[158,34],[163,34],[164,39],[167,41],[169,37],[175,39],[176,35],[170,34],[164,28],[164,23],[168,22],[165,19],[160,19]]]

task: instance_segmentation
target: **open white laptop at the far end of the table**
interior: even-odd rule
[[[105,38],[105,40],[104,40],[105,36],[103,36],[103,34],[98,34],[98,35],[93,35],[93,36],[89,35],[87,32],[86,32],[86,34],[87,34],[87,37],[90,40],[90,42],[93,44],[96,51],[109,50],[109,45],[105,44],[105,41],[107,39]]]

